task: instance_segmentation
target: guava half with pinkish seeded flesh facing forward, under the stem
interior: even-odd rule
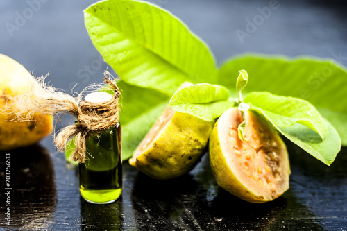
[[[242,114],[230,108],[219,117],[210,135],[210,165],[219,186],[251,203],[264,203],[289,189],[287,148],[258,114],[244,113],[245,142],[238,136]]]

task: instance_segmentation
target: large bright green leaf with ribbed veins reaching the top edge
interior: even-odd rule
[[[216,81],[208,46],[177,17],[151,3],[100,1],[85,10],[96,49],[127,83],[172,96],[189,81]]]

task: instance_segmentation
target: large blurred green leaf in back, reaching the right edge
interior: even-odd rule
[[[347,71],[330,59],[283,56],[242,55],[225,62],[218,74],[218,84],[235,90],[235,76],[246,69],[252,76],[244,92],[266,91],[309,101],[316,108],[330,110],[327,117],[347,145]],[[323,113],[324,114],[324,113]],[[336,114],[336,115],[333,115]],[[325,114],[324,114],[325,116]]]

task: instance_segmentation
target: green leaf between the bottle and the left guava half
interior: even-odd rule
[[[169,104],[169,96],[124,81],[118,81],[117,86],[121,89],[122,158],[127,160]]]

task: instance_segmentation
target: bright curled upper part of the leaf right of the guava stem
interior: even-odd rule
[[[301,123],[319,134],[321,140],[325,138],[327,127],[321,114],[313,105],[302,99],[286,96],[276,96],[269,92],[252,92],[246,96],[245,102],[251,108],[261,108],[265,117],[280,128]],[[321,142],[321,140],[319,142]]]

